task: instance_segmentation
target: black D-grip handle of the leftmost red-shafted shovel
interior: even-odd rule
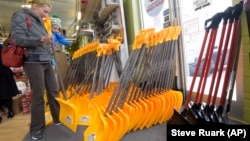
[[[205,30],[208,32],[210,29],[217,29],[224,16],[224,12],[215,14],[212,18],[205,21]],[[210,24],[209,24],[210,23]]]

